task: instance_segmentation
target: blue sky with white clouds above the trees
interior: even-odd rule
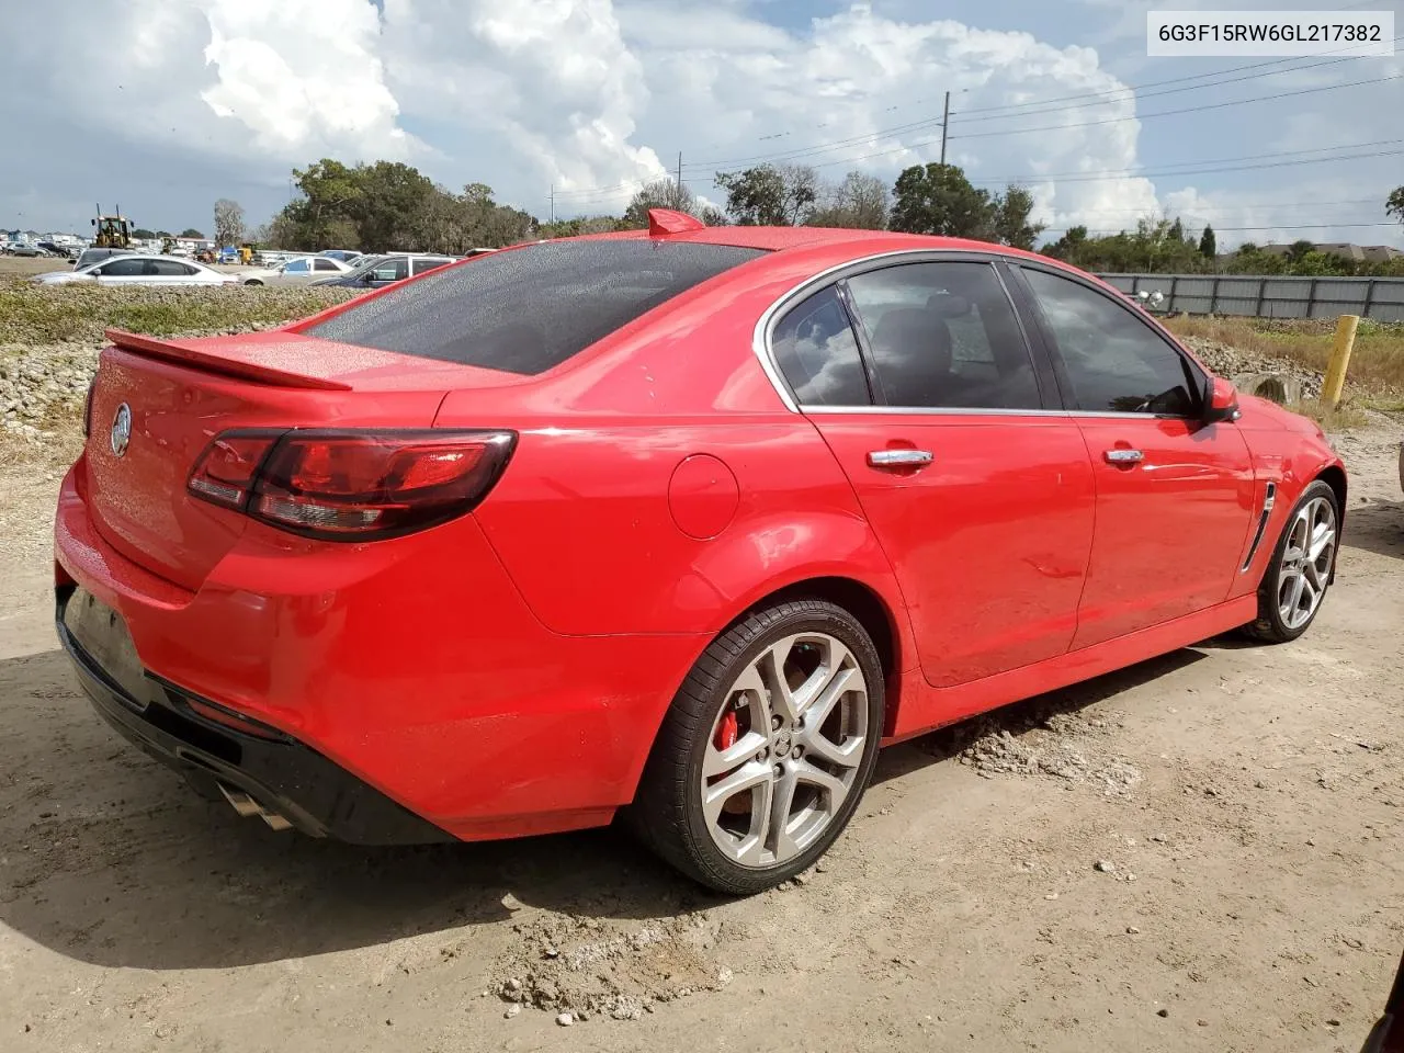
[[[0,0],[0,227],[251,222],[330,156],[482,181],[546,218],[761,160],[1029,187],[1050,234],[1168,211],[1220,246],[1404,246],[1396,58],[1148,59],[1146,10],[1221,0]],[[1389,10],[1390,0],[1236,0]],[[1397,29],[1400,31],[1400,29]],[[1393,79],[1390,79],[1393,77]],[[1360,83],[1365,81],[1365,83]],[[1247,101],[1245,101],[1247,100]],[[1192,111],[1192,112],[1185,112]]]

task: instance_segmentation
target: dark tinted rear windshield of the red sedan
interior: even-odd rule
[[[306,333],[529,376],[762,254],[646,239],[546,241],[431,272]]]

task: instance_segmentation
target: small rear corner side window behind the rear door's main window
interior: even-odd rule
[[[793,307],[771,334],[771,348],[800,406],[872,402],[858,340],[833,286]]]

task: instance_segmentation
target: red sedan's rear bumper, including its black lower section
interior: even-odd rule
[[[108,545],[81,479],[80,461],[59,491],[56,581],[121,616],[140,670],[125,692],[133,708],[114,695],[115,677],[74,656],[100,712],[187,774],[204,765],[271,810],[296,806],[306,817],[293,824],[312,833],[369,840],[340,833],[337,810],[372,807],[357,803],[368,792],[434,837],[605,824],[632,800],[668,702],[706,646],[552,633],[472,517],[344,546],[254,522],[188,591]],[[201,748],[188,723],[170,723],[190,716],[188,698],[281,741],[240,741],[237,762]]]

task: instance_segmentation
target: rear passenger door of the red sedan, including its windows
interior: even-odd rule
[[[1001,270],[851,274],[772,338],[893,564],[936,687],[1067,651],[1092,543],[1087,448],[1046,397]]]

